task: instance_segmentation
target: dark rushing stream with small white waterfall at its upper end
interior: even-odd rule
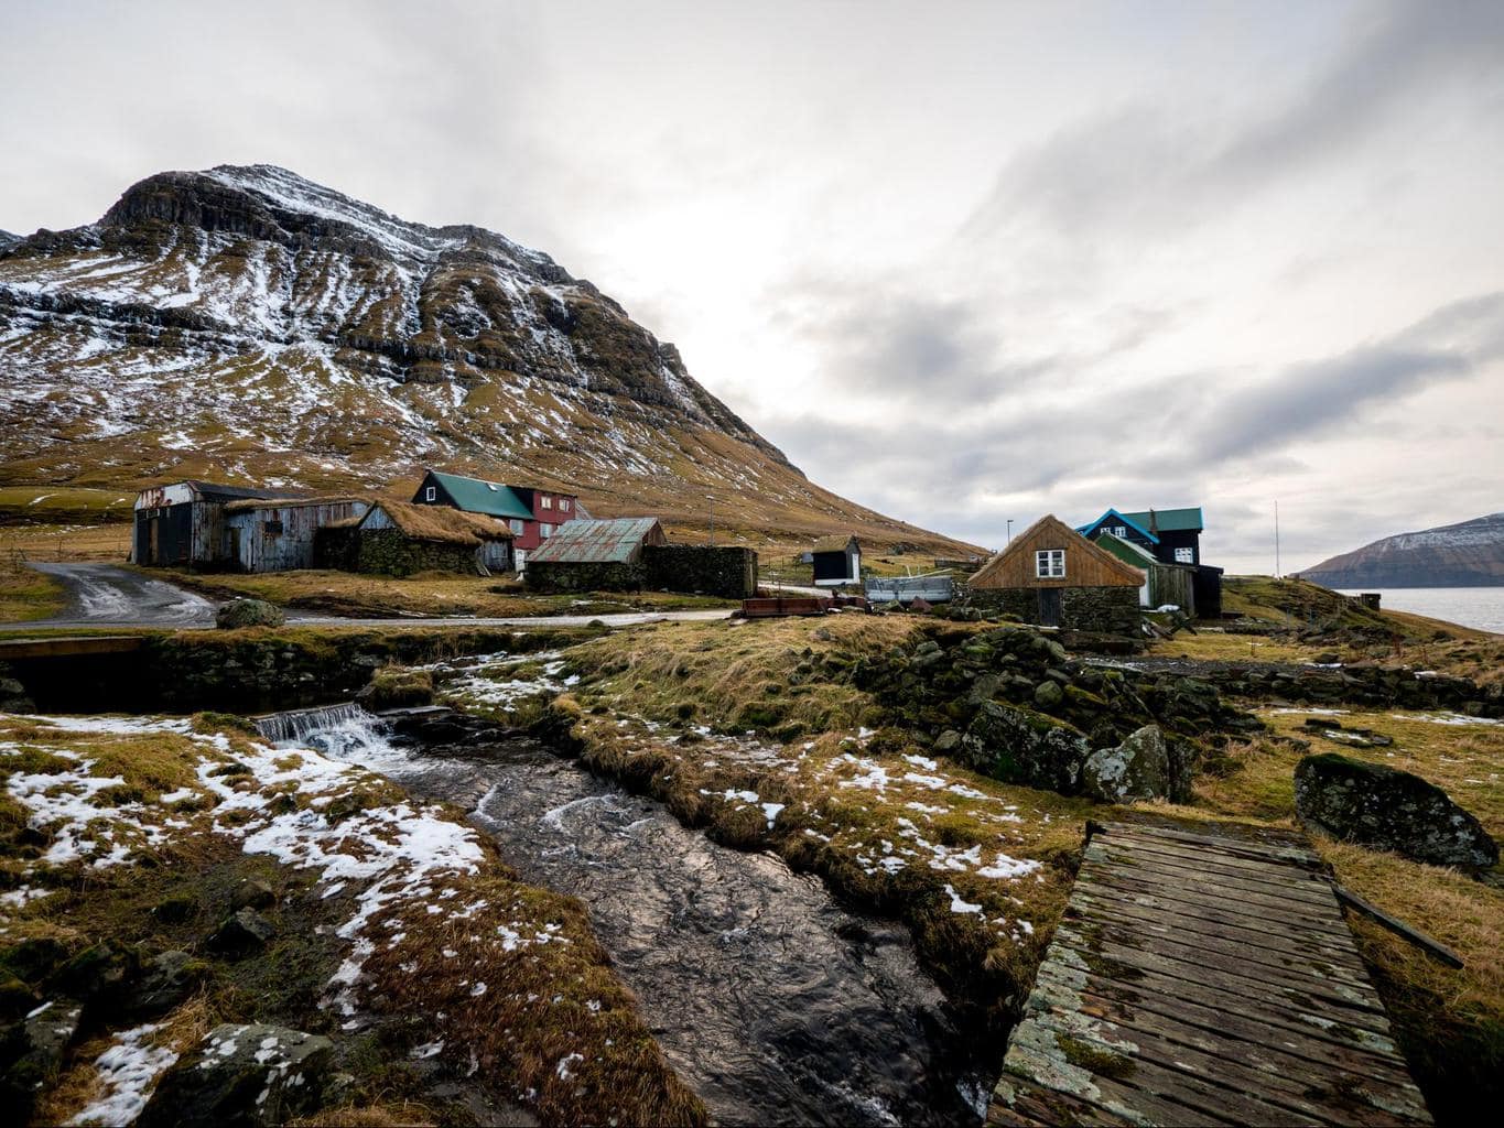
[[[405,746],[352,707],[260,723],[463,806],[525,880],[579,896],[716,1120],[981,1119],[990,1080],[904,929],[842,910],[817,878],[719,847],[526,738]]]

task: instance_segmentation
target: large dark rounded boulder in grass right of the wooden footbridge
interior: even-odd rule
[[[1483,824],[1435,784],[1336,752],[1296,764],[1295,812],[1331,838],[1415,862],[1486,869],[1499,860]]]

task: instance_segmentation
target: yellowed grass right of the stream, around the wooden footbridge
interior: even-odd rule
[[[913,630],[914,620],[851,615],[618,632],[564,653],[581,681],[555,701],[541,728],[687,824],[732,845],[773,850],[854,904],[905,920],[952,999],[978,1008],[996,1030],[1027,994],[1069,895],[1087,818],[1295,826],[1292,775],[1302,749],[1290,738],[1308,738],[1307,713],[1265,711],[1269,735],[1235,741],[1188,805],[1095,806],[932,757],[908,732],[877,728],[878,702],[827,675],[832,663],[910,642]],[[1248,645],[1215,635],[1163,645],[1173,651],[1203,638],[1221,648]],[[1301,653],[1254,642],[1269,657]],[[1214,645],[1202,656],[1242,659]],[[1393,735],[1394,747],[1352,750],[1310,738],[1313,750],[1340,747],[1415,772],[1504,836],[1504,725],[1442,725],[1385,711],[1340,720]],[[1456,1120],[1456,1101],[1498,1095],[1504,892],[1393,854],[1325,839],[1318,850],[1343,884],[1466,961],[1460,972],[1447,969],[1354,919],[1433,1107]]]

